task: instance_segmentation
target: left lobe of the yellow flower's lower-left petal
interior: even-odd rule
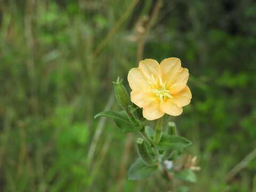
[[[154,102],[155,100],[157,100],[157,98],[154,93],[132,91],[131,100],[135,105],[141,108],[141,107],[148,106],[151,102]]]

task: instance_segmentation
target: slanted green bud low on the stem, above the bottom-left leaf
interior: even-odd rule
[[[151,155],[148,153],[146,143],[142,138],[137,139],[137,148],[138,148],[138,153],[140,155],[141,160],[143,163],[146,165],[153,165],[154,161]]]

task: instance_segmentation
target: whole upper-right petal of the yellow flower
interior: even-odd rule
[[[188,69],[181,67],[180,59],[167,58],[160,63],[163,81],[170,94],[176,94],[183,90],[188,81]]]

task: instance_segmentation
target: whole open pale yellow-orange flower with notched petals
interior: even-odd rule
[[[131,100],[143,108],[143,117],[148,120],[158,119],[165,113],[178,116],[192,98],[188,76],[188,69],[181,67],[178,58],[164,59],[160,65],[154,59],[142,60],[128,74]]]

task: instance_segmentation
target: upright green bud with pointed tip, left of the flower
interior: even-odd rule
[[[128,110],[129,105],[131,105],[131,100],[129,97],[129,94],[127,93],[127,90],[125,89],[123,83],[123,80],[119,80],[119,77],[117,78],[116,82],[113,82],[115,84],[115,95],[116,100],[124,110]]]

